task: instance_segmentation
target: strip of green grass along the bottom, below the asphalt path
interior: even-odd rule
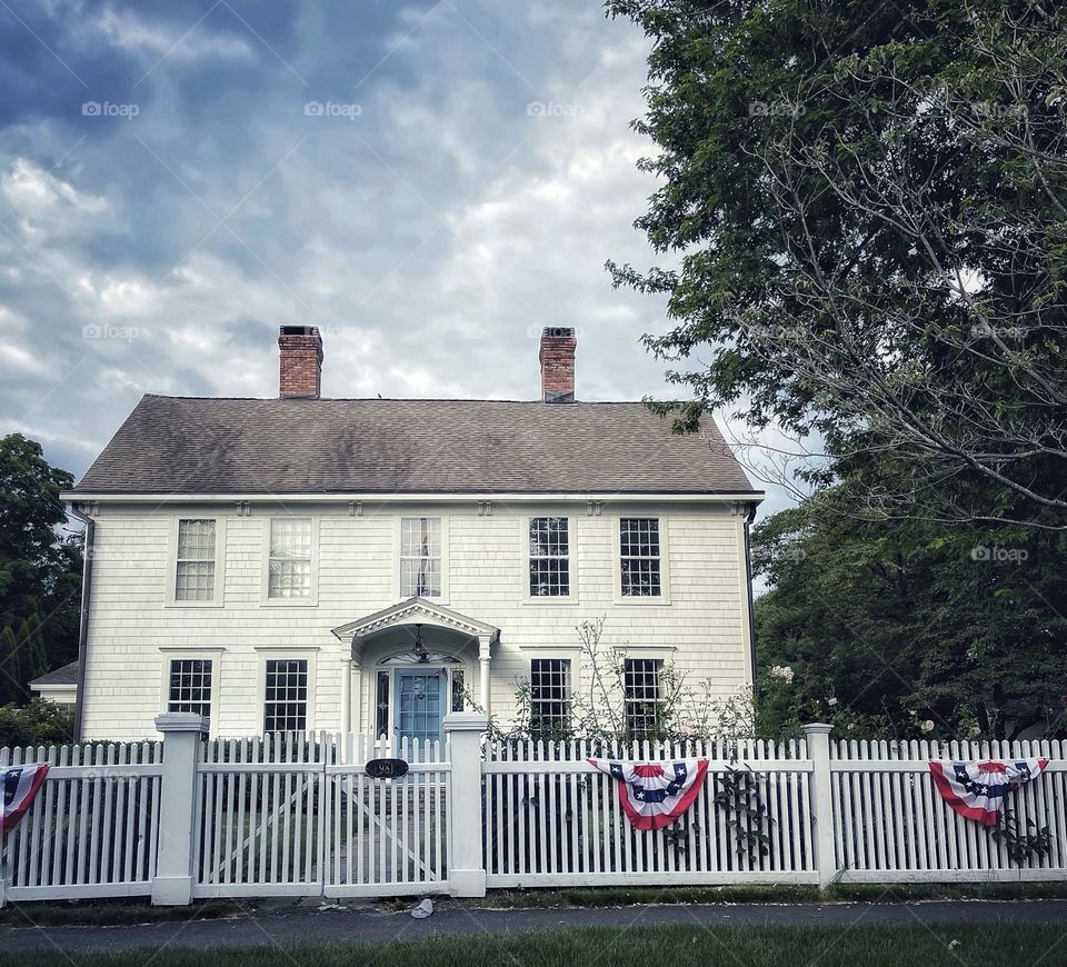
[[[957,940],[958,946],[949,947]],[[286,956],[288,954],[289,956]],[[776,967],[929,967],[1055,965],[1067,961],[1067,925],[955,924],[907,927],[630,927],[405,940],[386,945],[323,944],[236,950],[139,950],[74,954],[79,965],[152,967],[233,965],[350,967],[358,964],[455,965],[776,965]]]

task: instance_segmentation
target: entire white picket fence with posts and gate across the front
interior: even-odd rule
[[[188,719],[188,721],[187,721]],[[1067,879],[1063,742],[936,744],[804,739],[625,749],[588,742],[483,746],[483,719],[449,716],[442,744],[319,732],[201,740],[199,720],[163,716],[162,742],[3,749],[0,767],[53,764],[3,844],[7,900],[152,896],[483,895],[487,887]],[[677,824],[637,831],[590,756],[709,759]],[[410,764],[367,775],[373,758]],[[937,795],[930,760],[1044,757],[1011,797],[1050,853],[1021,866]],[[738,775],[766,810],[721,794]],[[746,844],[756,843],[756,848]]]

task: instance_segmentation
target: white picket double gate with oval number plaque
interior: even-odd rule
[[[446,749],[327,732],[203,744],[196,896],[447,890]],[[406,776],[367,775],[391,757]]]

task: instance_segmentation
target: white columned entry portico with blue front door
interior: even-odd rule
[[[462,710],[476,665],[479,705],[489,711],[490,661],[500,629],[486,621],[415,597],[332,634],[351,646],[342,660],[343,729],[433,740],[445,714]],[[369,715],[360,708],[363,695],[372,702]]]

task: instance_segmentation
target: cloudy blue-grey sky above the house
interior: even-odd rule
[[[667,391],[640,346],[647,43],[596,0],[0,0],[0,428],[80,475],[142,393]],[[775,501],[776,504],[778,501]]]

